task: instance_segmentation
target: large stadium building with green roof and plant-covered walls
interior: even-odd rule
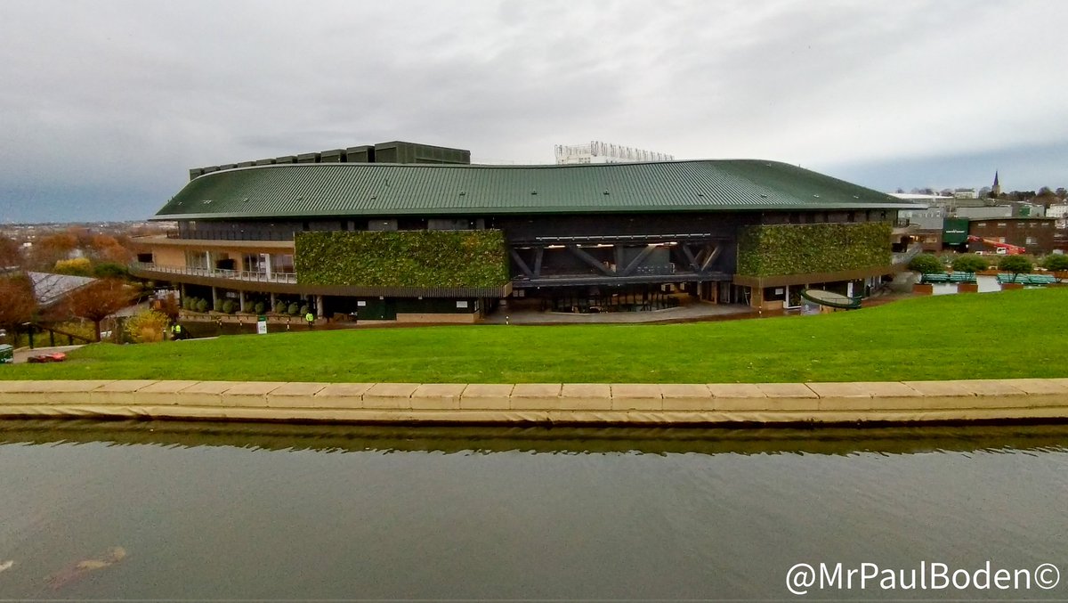
[[[892,245],[915,205],[782,163],[469,161],[392,142],[198,168],[153,218],[177,231],[138,239],[131,272],[215,307],[475,322],[509,297],[791,308],[806,287],[861,295],[908,259]]]

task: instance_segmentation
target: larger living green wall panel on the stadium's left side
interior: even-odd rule
[[[501,287],[508,281],[499,230],[302,232],[296,251],[301,284]]]

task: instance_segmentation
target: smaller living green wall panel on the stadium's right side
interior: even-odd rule
[[[738,236],[738,274],[782,276],[890,265],[889,222],[765,225]]]

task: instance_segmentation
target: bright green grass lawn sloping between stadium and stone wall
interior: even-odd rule
[[[1068,288],[921,297],[818,316],[449,326],[88,345],[0,378],[732,383],[1068,376]]]

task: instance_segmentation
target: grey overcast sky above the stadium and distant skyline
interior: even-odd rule
[[[389,140],[1068,186],[1066,31],[1062,0],[0,0],[0,221],[140,219],[191,167]]]

